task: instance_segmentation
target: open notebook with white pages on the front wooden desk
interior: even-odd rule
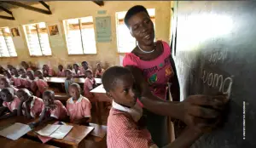
[[[52,125],[48,124],[41,130],[38,130],[38,134],[46,137],[51,137],[55,139],[63,139],[68,132],[73,128],[70,125]]]

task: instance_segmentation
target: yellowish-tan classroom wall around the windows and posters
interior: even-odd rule
[[[96,67],[96,62],[101,61],[103,65],[119,65],[119,53],[117,52],[117,40],[116,40],[116,26],[115,26],[115,13],[119,11],[127,11],[132,6],[141,4],[147,9],[155,9],[155,37],[157,40],[163,40],[169,43],[170,33],[170,9],[171,2],[161,1],[142,1],[142,2],[108,2],[104,1],[104,6],[100,7],[96,3],[88,2],[48,2],[52,14],[40,14],[31,10],[19,8],[12,9],[15,16],[15,20],[3,20],[0,19],[0,27],[3,26],[19,26],[20,36],[15,37],[15,48],[18,54],[17,58],[0,58],[1,65],[19,65],[20,61],[32,61],[40,68],[44,64],[49,64],[53,68],[57,69],[57,65],[73,64],[75,62],[81,62],[86,60]],[[32,5],[37,8],[44,7],[41,4]],[[107,10],[107,14],[97,14],[97,10]],[[5,12],[1,12],[0,15],[8,15]],[[85,16],[93,16],[94,20],[97,16],[111,16],[111,30],[112,41],[110,43],[96,43],[97,54],[90,55],[68,55],[67,44],[65,34],[63,30],[62,20],[73,19]],[[24,35],[22,25],[45,22],[46,24],[60,23],[61,25],[61,43],[51,44],[52,55],[42,57],[31,57],[26,45],[26,38]],[[95,26],[96,29],[96,26]],[[124,55],[124,54],[121,54]]]

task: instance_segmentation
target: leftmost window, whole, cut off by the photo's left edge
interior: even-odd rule
[[[8,27],[0,28],[0,57],[16,57],[15,44]]]

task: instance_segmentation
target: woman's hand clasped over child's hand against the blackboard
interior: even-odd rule
[[[183,108],[183,122],[198,130],[214,128],[220,121],[221,111],[228,99],[224,95],[192,95],[180,105]]]

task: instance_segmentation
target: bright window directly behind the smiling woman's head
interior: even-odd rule
[[[150,19],[153,21],[155,27],[155,13],[154,9],[147,9]],[[117,44],[119,53],[130,53],[133,48],[136,46],[136,40],[134,37],[131,37],[131,33],[127,26],[125,26],[125,14],[126,11],[116,13],[117,17]]]

